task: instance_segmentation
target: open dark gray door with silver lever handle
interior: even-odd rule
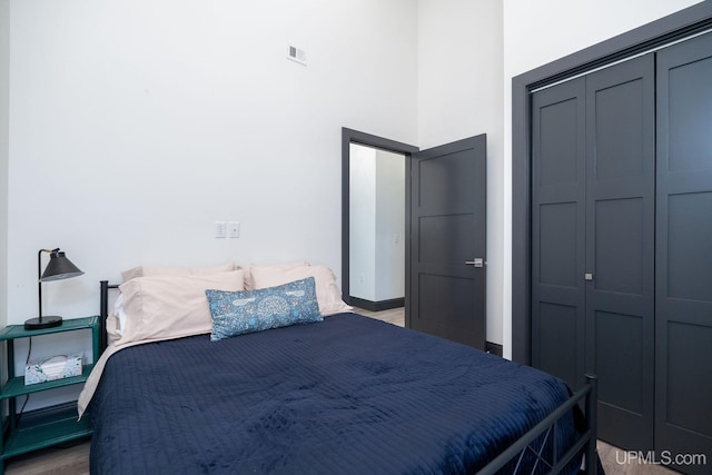
[[[423,150],[411,174],[407,326],[485,347],[486,136]]]

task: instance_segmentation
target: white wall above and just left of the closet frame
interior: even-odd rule
[[[690,7],[690,0],[504,0],[504,348],[512,355],[512,78]]]

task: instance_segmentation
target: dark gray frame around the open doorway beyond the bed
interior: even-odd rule
[[[405,156],[405,325],[408,326],[411,303],[411,161],[418,148],[395,140],[374,136],[358,130],[342,128],[342,298],[353,305],[350,296],[350,145],[359,144],[366,147],[379,148]]]

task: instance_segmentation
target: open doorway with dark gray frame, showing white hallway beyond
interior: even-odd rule
[[[342,293],[348,305],[406,307],[411,156],[417,147],[342,130]]]

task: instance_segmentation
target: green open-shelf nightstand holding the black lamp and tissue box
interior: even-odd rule
[[[61,444],[76,438],[91,435],[89,417],[77,420],[77,413],[38,417],[37,420],[22,420],[18,424],[17,397],[31,393],[39,393],[58,387],[82,384],[89,377],[93,365],[86,365],[81,376],[57,379],[47,383],[38,383],[29,386],[24,385],[24,377],[14,375],[14,340],[17,338],[29,338],[40,335],[57,334],[62,331],[76,331],[90,329],[92,337],[93,360],[99,357],[100,325],[99,317],[66,319],[58,327],[38,330],[26,330],[24,325],[8,325],[0,330],[0,342],[7,342],[7,358],[3,364],[8,372],[8,380],[0,388],[0,402],[8,399],[9,432],[6,437],[0,437],[0,474],[4,473],[4,461],[16,455],[37,451],[56,444]],[[51,409],[51,408],[50,408]]]

